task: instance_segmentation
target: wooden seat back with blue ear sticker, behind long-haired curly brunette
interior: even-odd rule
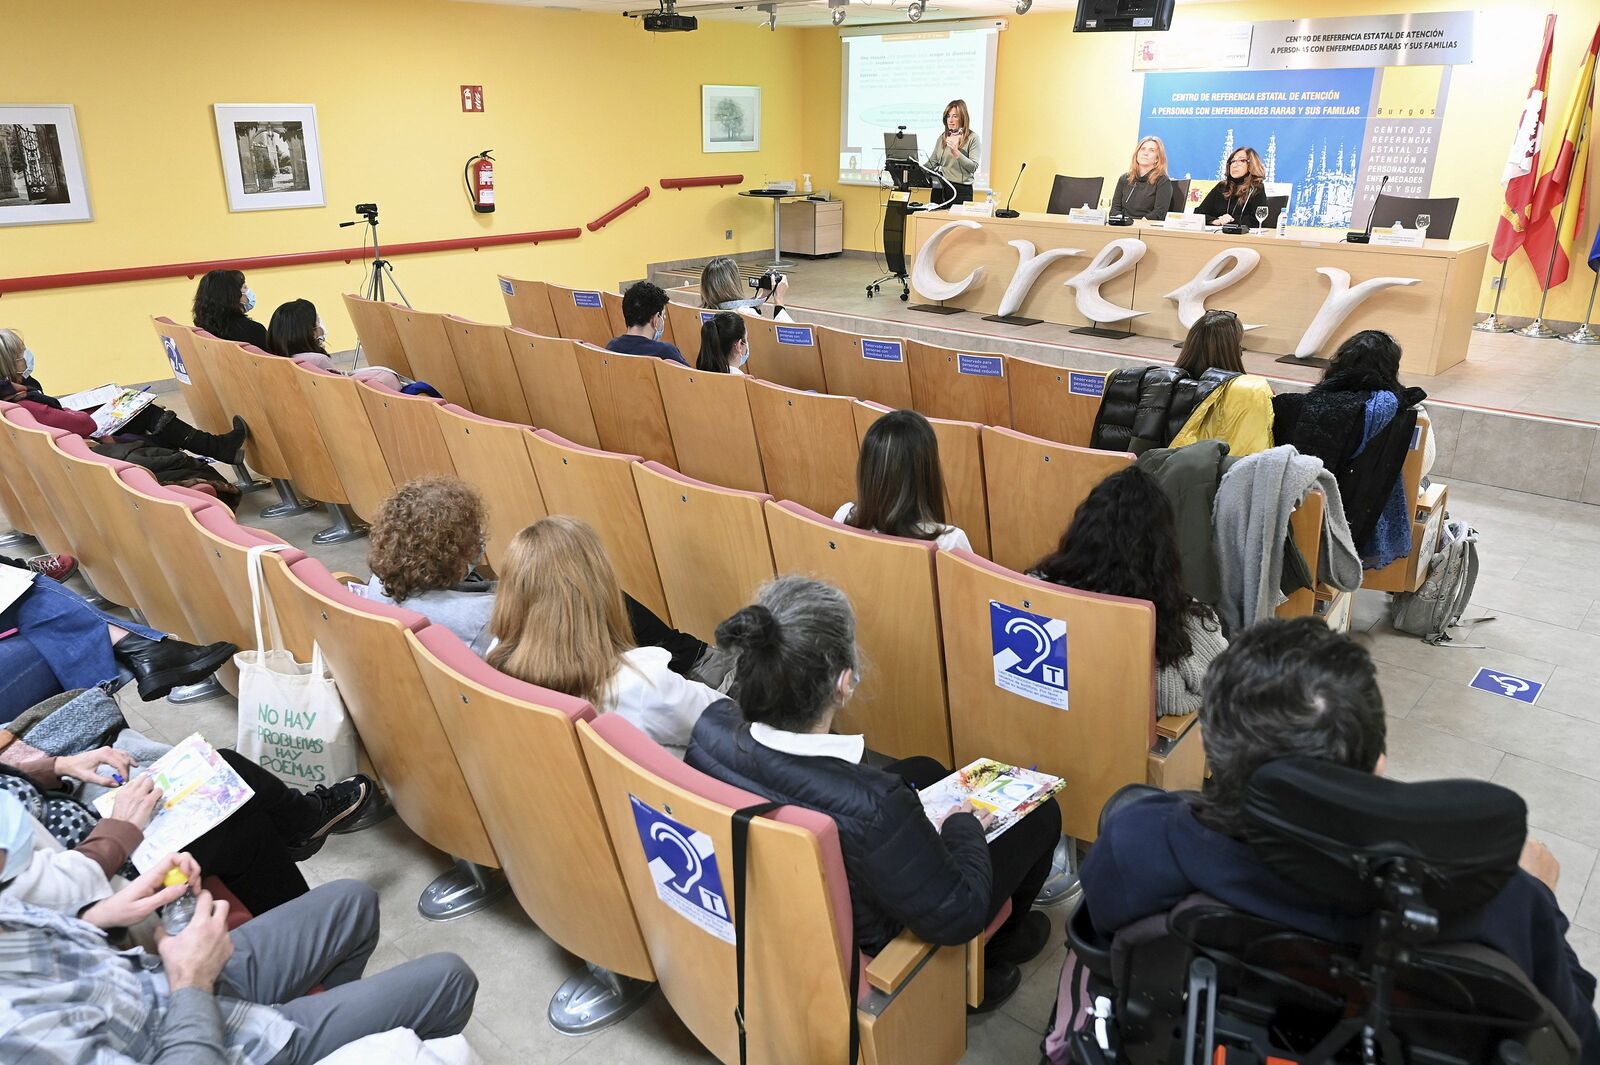
[[[1106,800],[1147,776],[1155,742],[1155,608],[1034,580],[970,552],[939,552],[938,568],[955,764],[997,758],[1066,777],[1061,830],[1094,840]],[[1040,632],[1051,638],[1048,649]],[[1027,670],[1018,686],[1032,686],[1034,694],[997,683],[998,656],[1008,651]],[[1030,668],[1024,654],[1037,657]],[[1064,689],[1042,683],[1050,668],[1062,670]]]

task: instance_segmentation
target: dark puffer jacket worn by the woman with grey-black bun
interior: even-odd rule
[[[954,947],[984,931],[994,870],[976,817],[936,832],[898,776],[840,758],[806,758],[750,739],[739,707],[714,702],[694,724],[688,764],[770,800],[834,819],[850,878],[856,942],[869,955],[909,927]]]

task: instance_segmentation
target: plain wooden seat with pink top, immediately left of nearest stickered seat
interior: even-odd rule
[[[584,963],[550,999],[550,1023],[570,1035],[616,1023],[656,971],[578,742],[594,707],[501,673],[443,625],[406,643],[517,902]]]

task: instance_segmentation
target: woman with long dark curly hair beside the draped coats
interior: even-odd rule
[[[1200,708],[1205,670],[1227,648],[1222,624],[1184,592],[1173,507],[1149,473],[1128,467],[1094,486],[1053,555],[1030,577],[1155,606],[1155,712]]]

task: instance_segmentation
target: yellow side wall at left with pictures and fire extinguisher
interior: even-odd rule
[[[0,229],[0,277],[358,245],[362,230],[338,222],[366,200],[386,241],[563,229],[650,184],[643,205],[574,241],[395,261],[418,307],[504,321],[496,272],[614,286],[648,262],[770,246],[768,205],[656,182],[755,182],[800,163],[800,30],[648,35],[616,14],[445,0],[72,8],[6,5],[3,35],[27,46],[5,50],[0,102],[77,106],[94,221]],[[462,83],[485,86],[485,114],[461,112]],[[701,83],[763,88],[763,152],[701,152]],[[317,104],[330,206],[229,213],[211,104],[262,101]],[[482,149],[499,160],[488,216],[461,182]],[[339,293],[362,275],[341,262],[251,272],[256,318],[304,296],[349,347]],[[149,315],[187,320],[192,294],[186,278],[16,293],[0,297],[0,325],[24,333],[54,392],[150,381],[168,369]]]

